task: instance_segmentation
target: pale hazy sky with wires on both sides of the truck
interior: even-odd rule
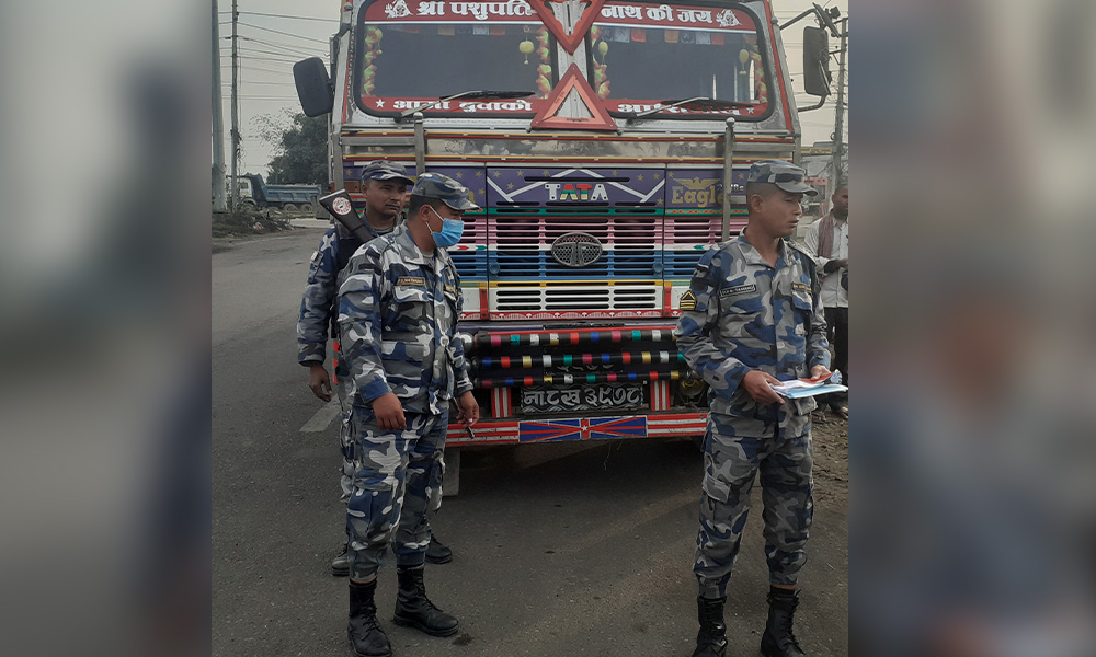
[[[231,83],[231,9],[230,0],[218,0],[220,13],[221,90],[225,107],[225,158],[226,170],[230,166],[231,149],[227,136],[231,122],[229,93]],[[823,7],[837,7],[842,15],[848,13],[848,0],[819,0]],[[791,19],[811,5],[810,0],[774,0],[777,18],[783,22]],[[339,0],[239,0],[240,24],[240,131],[243,135],[243,154],[240,172],[266,173],[271,149],[259,140],[258,129],[252,119],[263,114],[277,114],[283,108],[299,111],[293,85],[293,62],[309,56],[327,59],[328,37],[338,30]],[[253,12],[253,13],[250,13]],[[301,16],[296,19],[274,15]],[[315,20],[306,20],[315,19]],[[809,23],[809,21],[811,23]],[[799,80],[802,72],[802,27],[812,24],[813,19],[803,19],[785,35],[788,67],[796,78],[796,88],[802,89]],[[832,49],[836,41],[831,39]],[[837,65],[831,66],[836,85]],[[799,96],[800,105],[813,104],[813,96]],[[821,110],[800,115],[803,127],[803,143],[826,141],[834,127],[833,108],[836,96],[831,96]],[[848,122],[845,122],[848,135]]]

